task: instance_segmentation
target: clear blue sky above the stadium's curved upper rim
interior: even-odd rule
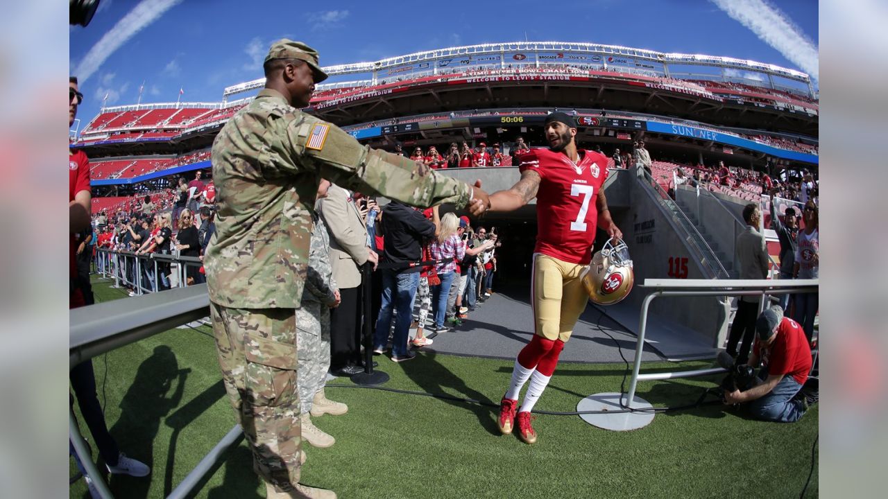
[[[98,113],[105,95],[108,106],[136,103],[143,82],[142,102],[175,101],[180,88],[183,101],[219,101],[226,86],[261,77],[268,46],[284,36],[317,49],[321,66],[527,36],[753,59],[805,71],[788,59],[803,58],[792,55],[804,52],[798,41],[783,36],[787,30],[767,27],[778,18],[789,20],[809,42],[810,64],[810,44],[819,45],[817,4],[768,2],[773,12],[767,12],[761,2],[101,0],[88,28],[70,29],[69,57],[73,73],[87,74],[78,113],[83,123]],[[131,30],[138,31],[118,37],[115,50],[94,49],[127,14]],[[107,38],[103,45],[115,46]]]

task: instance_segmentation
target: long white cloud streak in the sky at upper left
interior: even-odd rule
[[[83,83],[89,77],[99,70],[102,63],[125,44],[132,36],[139,33],[142,28],[147,27],[157,18],[161,17],[164,12],[170,10],[170,7],[178,4],[182,0],[142,0],[129,13],[123,16],[123,19],[117,21],[114,28],[111,28],[105,36],[102,36],[98,43],[92,46],[83,60],[77,65],[74,74]],[[108,100],[111,98],[108,97]]]

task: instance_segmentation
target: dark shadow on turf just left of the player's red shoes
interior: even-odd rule
[[[469,385],[465,384],[462,378],[454,375],[448,368],[442,366],[440,362],[436,360],[435,353],[427,352],[423,355],[417,355],[415,360],[404,362],[401,366],[404,368],[404,373],[413,380],[414,383],[419,385],[422,392],[447,393],[448,390],[445,389],[449,388],[452,391],[462,394],[468,399],[474,399],[489,404],[498,404],[498,401],[494,402],[493,400],[488,399],[483,393],[475,391],[469,387]],[[478,404],[466,404],[465,402],[457,400],[439,400],[447,402],[457,408],[471,410],[475,416],[478,417],[478,422],[485,430],[492,435],[500,434],[494,417],[494,411],[496,409],[480,406]]]

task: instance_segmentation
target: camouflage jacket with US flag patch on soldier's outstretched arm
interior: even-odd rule
[[[298,308],[321,178],[421,207],[462,208],[472,193],[427,166],[361,146],[271,89],[228,120],[211,154],[217,218],[204,269],[210,300],[232,308]]]

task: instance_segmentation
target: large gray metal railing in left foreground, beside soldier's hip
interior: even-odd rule
[[[75,308],[70,311],[69,368],[209,314],[210,297],[205,284]],[[68,414],[68,423],[75,453],[99,495],[106,499],[113,498],[102,479],[104,475],[99,473],[83,441],[74,408]],[[202,477],[212,471],[226,449],[236,446],[241,438],[241,427],[235,425],[167,497],[178,499],[188,496]]]

